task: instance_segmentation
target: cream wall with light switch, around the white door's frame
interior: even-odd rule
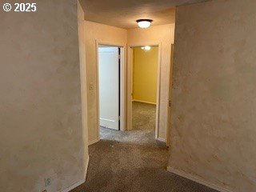
[[[87,87],[88,87],[88,137],[89,143],[98,140],[98,116],[97,102],[98,95],[96,92],[96,40],[110,44],[126,46],[126,30],[114,26],[106,26],[95,22],[85,21],[86,33],[86,67],[87,67]],[[89,84],[93,83],[94,89],[89,90]]]

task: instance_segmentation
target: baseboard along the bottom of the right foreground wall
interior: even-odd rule
[[[202,178],[195,177],[192,174],[186,174],[183,171],[175,170],[174,168],[172,168],[170,166],[167,166],[167,171],[169,171],[172,174],[177,174],[178,176],[181,176],[182,178],[190,179],[193,182],[198,182],[198,183],[202,184],[203,186],[208,186],[213,190],[218,190],[220,192],[232,192],[230,190],[224,189],[223,187],[217,186],[217,185],[212,184],[210,182],[206,182],[206,181],[202,180]]]

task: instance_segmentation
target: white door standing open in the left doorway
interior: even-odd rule
[[[98,48],[100,126],[119,130],[118,47]]]

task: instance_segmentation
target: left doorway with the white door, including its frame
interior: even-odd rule
[[[124,129],[123,47],[97,43],[98,136]],[[99,139],[100,139],[99,138]]]

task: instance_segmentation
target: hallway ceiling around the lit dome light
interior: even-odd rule
[[[175,6],[207,0],[80,0],[85,19],[125,29],[137,27],[140,18],[153,19],[152,26],[175,22]]]

